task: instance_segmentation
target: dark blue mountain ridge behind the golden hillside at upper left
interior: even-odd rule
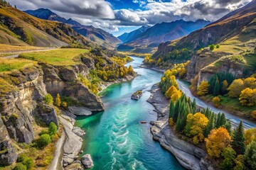
[[[110,33],[107,33],[105,30],[95,28],[93,26],[84,26],[78,23],[78,21],[74,21],[72,18],[66,20],[65,18],[58,16],[58,14],[53,13],[53,11],[50,11],[47,8],[38,8],[37,10],[28,10],[25,12],[37,18],[67,23],[81,35],[104,47],[113,49],[117,46],[117,44],[121,42],[118,38],[114,37],[114,35]]]

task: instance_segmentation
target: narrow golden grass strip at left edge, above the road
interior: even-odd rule
[[[28,50],[43,50],[43,47],[33,47],[33,46],[16,46],[16,45],[4,45],[0,44],[0,52],[23,52]]]

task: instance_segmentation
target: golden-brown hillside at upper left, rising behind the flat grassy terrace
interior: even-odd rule
[[[40,47],[90,43],[64,23],[41,20],[1,3],[0,7],[0,43]]]

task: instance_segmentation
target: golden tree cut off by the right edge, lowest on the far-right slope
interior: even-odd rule
[[[242,106],[254,106],[256,103],[256,89],[246,88],[242,90],[239,101]]]

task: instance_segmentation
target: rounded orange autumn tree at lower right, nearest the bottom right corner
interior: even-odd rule
[[[213,129],[206,138],[206,149],[210,157],[220,157],[225,147],[230,145],[231,137],[223,127]]]

